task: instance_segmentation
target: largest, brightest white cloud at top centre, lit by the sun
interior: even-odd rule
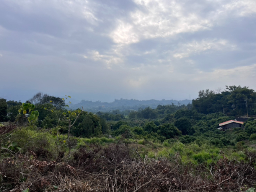
[[[174,0],[134,0],[139,8],[129,19],[118,20],[110,37],[116,43],[130,44],[142,39],[165,38],[185,32],[208,30],[212,22],[194,12],[188,12]],[[128,20],[128,21],[126,21]]]

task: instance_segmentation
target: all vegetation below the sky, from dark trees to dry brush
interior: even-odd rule
[[[26,104],[0,99],[0,190],[256,187],[256,93],[248,87],[202,90],[192,104],[125,112],[70,111],[65,98],[42,93],[28,103],[34,104],[31,111]],[[28,122],[24,115],[35,110],[38,118]],[[247,112],[252,117],[241,128],[217,129]]]

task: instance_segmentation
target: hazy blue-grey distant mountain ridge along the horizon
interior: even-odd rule
[[[100,101],[86,101],[82,100],[78,104],[70,104],[72,109],[84,107],[84,110],[96,112],[96,111],[111,111],[111,110],[138,110],[139,108],[156,108],[158,105],[187,105],[192,103],[192,100],[136,100],[136,99],[115,99],[113,102],[100,102]]]

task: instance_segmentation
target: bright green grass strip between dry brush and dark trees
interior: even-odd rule
[[[52,154],[56,154],[59,149],[62,151],[68,151],[67,135],[58,135],[58,147],[56,145],[57,139],[56,135],[51,134],[46,130],[36,130],[32,127],[23,127],[10,136],[9,143],[13,145],[13,150],[18,151],[22,149],[23,152],[29,148],[44,148],[47,149]],[[179,156],[180,161],[184,164],[212,164],[216,163],[220,158],[225,155],[230,160],[237,160],[239,162],[246,161],[245,152],[256,152],[255,148],[240,145],[230,146],[224,148],[217,148],[213,145],[202,144],[198,145],[196,142],[190,144],[182,144],[181,142],[163,142],[162,144],[154,143],[144,139],[134,140],[134,139],[122,139],[120,137],[116,138],[76,138],[72,137],[73,149],[79,149],[81,147],[87,146],[89,144],[98,144],[101,146],[108,146],[111,143],[123,142],[128,144],[130,147],[138,147],[138,152],[140,152],[142,158],[148,156],[148,158],[167,158],[172,160],[174,156]],[[135,146],[134,146],[135,144]]]

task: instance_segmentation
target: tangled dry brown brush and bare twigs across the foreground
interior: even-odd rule
[[[33,158],[32,158],[33,156]],[[256,184],[256,155],[247,163],[221,158],[212,166],[172,159],[142,159],[125,144],[92,145],[56,161],[40,161],[32,150],[0,162],[0,191],[59,192],[230,192]]]

